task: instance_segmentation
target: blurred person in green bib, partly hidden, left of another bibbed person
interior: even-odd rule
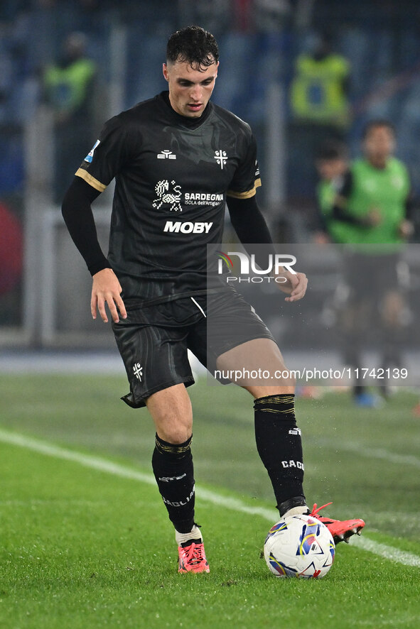
[[[337,221],[333,217],[333,207],[337,189],[348,168],[348,148],[345,143],[329,140],[318,148],[316,170],[319,181],[316,186],[316,218],[313,226],[313,240],[318,244],[336,242]]]

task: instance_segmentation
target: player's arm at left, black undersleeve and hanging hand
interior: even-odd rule
[[[72,241],[82,254],[87,268],[92,275],[92,297],[90,310],[96,319],[97,310],[102,320],[107,323],[105,304],[109,308],[114,322],[119,315],[126,318],[126,309],[121,297],[122,288],[107,258],[104,256],[97,239],[92,202],[99,196],[95,190],[80,177],[75,177],[63,200],[62,213]]]

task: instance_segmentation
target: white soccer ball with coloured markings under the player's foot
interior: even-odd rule
[[[289,515],[271,527],[264,558],[273,574],[318,578],[333,565],[335,544],[330,531],[312,515]]]

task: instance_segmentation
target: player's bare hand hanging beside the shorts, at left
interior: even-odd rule
[[[108,322],[105,304],[109,308],[112,320],[119,322],[118,310],[123,319],[127,313],[121,297],[122,288],[112,268],[103,268],[95,273],[92,284],[92,299],[90,300],[90,312],[96,319],[97,310],[104,323]],[[118,308],[118,310],[117,310]]]

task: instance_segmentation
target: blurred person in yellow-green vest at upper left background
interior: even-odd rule
[[[70,33],[60,60],[43,73],[45,102],[55,124],[55,202],[63,199],[69,173],[77,170],[94,135],[96,65],[87,58],[86,46],[86,35]]]

